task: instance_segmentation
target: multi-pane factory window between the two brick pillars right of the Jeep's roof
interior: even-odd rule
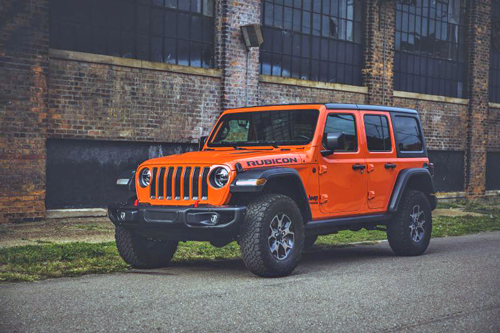
[[[396,4],[396,90],[463,98],[466,0]]]

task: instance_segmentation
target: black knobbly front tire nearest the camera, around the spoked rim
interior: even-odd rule
[[[294,233],[293,246],[284,259],[271,253],[271,221],[286,214]],[[247,207],[245,221],[240,230],[240,251],[243,262],[255,275],[262,277],[286,276],[297,266],[304,247],[304,224],[295,201],[280,194],[265,194]]]

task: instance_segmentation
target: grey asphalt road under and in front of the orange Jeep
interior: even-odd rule
[[[500,232],[306,253],[286,278],[240,260],[0,286],[6,332],[500,332]]]

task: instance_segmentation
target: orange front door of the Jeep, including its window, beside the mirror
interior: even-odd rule
[[[359,141],[360,128],[359,111],[332,111],[327,116],[323,137],[326,133],[344,133],[345,145],[329,156],[319,156],[323,214],[345,215],[366,206],[366,165]]]

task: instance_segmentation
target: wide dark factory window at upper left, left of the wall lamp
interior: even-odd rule
[[[52,0],[50,46],[214,66],[214,0]]]

